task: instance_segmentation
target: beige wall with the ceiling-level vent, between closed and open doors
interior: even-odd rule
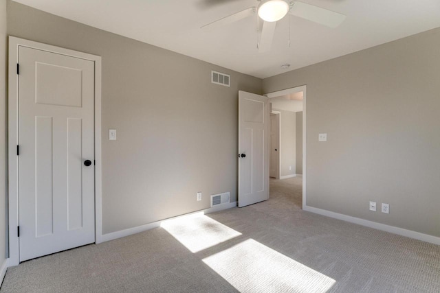
[[[12,1],[8,33],[102,56],[103,233],[236,200],[238,91],[261,93],[260,79]]]

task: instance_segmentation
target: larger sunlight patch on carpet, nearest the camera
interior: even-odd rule
[[[336,283],[254,239],[203,262],[240,292],[327,292]]]

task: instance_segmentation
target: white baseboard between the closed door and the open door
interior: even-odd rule
[[[106,242],[106,241],[110,241],[113,239],[118,239],[118,238],[122,238],[125,236],[129,236],[129,235],[133,235],[136,233],[140,233],[140,232],[144,232],[153,228],[157,228],[160,226],[160,224],[166,220],[170,220],[170,219],[175,219],[175,218],[180,218],[180,217],[184,217],[186,215],[192,215],[195,213],[215,213],[216,211],[223,211],[223,209],[230,209],[232,207],[236,207],[236,202],[230,202],[228,204],[221,204],[221,206],[219,207],[210,207],[209,209],[203,209],[201,211],[195,211],[192,213],[186,213],[185,215],[178,215],[177,217],[173,217],[173,218],[168,218],[168,219],[164,219],[164,220],[160,220],[157,222],[152,222],[149,224],[144,224],[142,226],[137,226],[137,227],[133,227],[133,228],[128,228],[125,230],[121,230],[121,231],[116,231],[116,232],[112,232],[112,233],[108,233],[108,234],[104,234],[102,235],[100,238],[100,242],[96,242],[96,244],[101,243],[101,242]]]

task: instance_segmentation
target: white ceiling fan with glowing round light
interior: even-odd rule
[[[259,0],[259,5],[250,7],[240,12],[236,12],[229,16],[223,17],[207,25],[203,25],[201,29],[212,30],[223,25],[228,25],[241,19],[250,17],[258,13],[259,17],[264,21],[261,36],[257,44],[259,52],[264,53],[270,51],[272,47],[272,40],[276,27],[276,21],[283,19],[288,13],[298,16],[321,25],[328,27],[338,27],[344,21],[345,15],[338,12],[333,12],[325,8],[320,8],[315,5],[307,4],[301,1],[289,0]]]

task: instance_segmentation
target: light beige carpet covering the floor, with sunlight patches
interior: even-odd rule
[[[0,292],[440,292],[440,246],[300,209],[300,178],[249,207],[9,268]]]

